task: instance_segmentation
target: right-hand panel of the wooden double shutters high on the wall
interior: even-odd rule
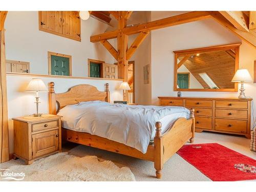
[[[81,40],[80,17],[77,11],[62,11],[62,34]]]

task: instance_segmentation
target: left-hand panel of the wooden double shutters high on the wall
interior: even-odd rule
[[[61,11],[39,11],[39,29],[62,34]]]

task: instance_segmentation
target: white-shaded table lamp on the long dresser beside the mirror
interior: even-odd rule
[[[249,82],[252,81],[252,78],[250,76],[250,73],[248,72],[247,69],[239,69],[237,70],[236,74],[234,74],[234,77],[231,80],[232,82],[241,82],[241,88],[239,89],[240,95],[238,98],[240,99],[245,99],[247,98],[244,94],[244,82]]]

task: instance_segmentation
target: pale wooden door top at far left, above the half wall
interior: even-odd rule
[[[30,73],[29,62],[6,60],[6,72],[11,73]]]

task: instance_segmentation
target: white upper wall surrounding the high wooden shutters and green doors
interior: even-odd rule
[[[38,29],[37,11],[8,11],[5,22],[6,59],[30,62],[30,73],[48,74],[48,51],[72,56],[72,75],[88,76],[87,59],[113,63],[113,56],[90,36],[110,26],[90,17],[81,20],[81,42]]]

